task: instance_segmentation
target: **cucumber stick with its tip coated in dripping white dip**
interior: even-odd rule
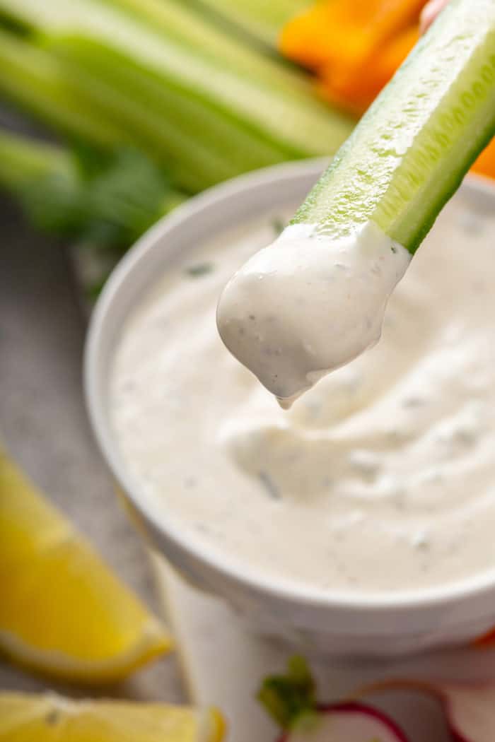
[[[495,128],[495,0],[451,0],[272,246],[220,296],[283,407],[378,341],[413,252]]]

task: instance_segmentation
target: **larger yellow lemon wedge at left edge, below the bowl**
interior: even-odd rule
[[[102,683],[171,648],[163,625],[1,449],[0,585],[0,651],[33,669]]]

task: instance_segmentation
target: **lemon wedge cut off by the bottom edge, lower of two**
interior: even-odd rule
[[[0,693],[0,742],[220,742],[216,709]]]

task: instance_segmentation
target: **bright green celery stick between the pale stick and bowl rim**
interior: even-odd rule
[[[292,154],[106,46],[71,37],[50,39],[49,48],[105,113],[125,122],[134,142],[165,162],[174,181],[190,191]]]

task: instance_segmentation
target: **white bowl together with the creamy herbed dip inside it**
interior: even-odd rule
[[[291,410],[229,354],[217,298],[321,161],[191,199],[119,263],[85,389],[155,550],[306,651],[403,654],[495,626],[495,188],[468,177],[397,286],[381,341]]]

